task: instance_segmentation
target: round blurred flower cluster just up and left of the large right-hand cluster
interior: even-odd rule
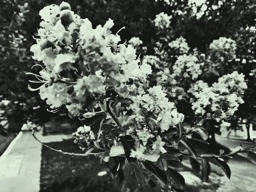
[[[180,55],[177,58],[173,68],[173,75],[175,77],[191,77],[193,80],[197,79],[202,74],[202,66],[204,63],[198,63],[199,60],[194,55]]]

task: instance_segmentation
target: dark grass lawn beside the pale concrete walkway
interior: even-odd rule
[[[73,139],[47,145],[66,152],[81,153],[79,147],[73,143]],[[104,170],[105,168],[100,165],[97,157],[73,157],[43,146],[40,192],[115,192],[116,189],[108,175],[97,176]],[[213,189],[212,192],[217,188],[218,186],[206,187],[206,189]],[[201,189],[201,186],[186,186],[184,190],[185,192],[199,192]],[[150,188],[143,191],[157,192],[158,190]]]

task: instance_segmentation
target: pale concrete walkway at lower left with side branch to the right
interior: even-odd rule
[[[68,139],[70,135],[35,136],[43,143]],[[41,143],[31,132],[20,132],[0,157],[0,192],[39,192]]]

